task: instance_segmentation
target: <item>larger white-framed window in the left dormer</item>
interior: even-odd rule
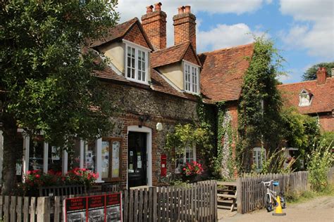
[[[148,61],[148,48],[125,41],[125,77],[127,79],[142,84],[148,84]]]

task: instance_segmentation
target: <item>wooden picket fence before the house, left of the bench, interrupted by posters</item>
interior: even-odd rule
[[[123,221],[126,222],[217,221],[216,181],[121,192]],[[0,196],[0,218],[24,222],[63,221],[64,198]]]

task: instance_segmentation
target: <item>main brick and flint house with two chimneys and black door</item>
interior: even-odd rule
[[[133,18],[111,28],[104,39],[92,41],[90,48],[102,60],[109,58],[108,67],[97,76],[110,86],[111,100],[119,110],[111,117],[113,131],[97,141],[78,139],[70,153],[23,133],[18,176],[32,169],[65,174],[80,167],[99,173],[97,183],[120,183],[128,188],[164,183],[163,168],[174,174],[184,162],[204,162],[195,147],[186,148],[177,166],[171,157],[165,161],[166,136],[176,124],[198,121],[199,95],[207,104],[225,101],[236,129],[242,77],[254,46],[198,55],[196,17],[190,6],[178,8],[173,25],[175,44],[166,48],[166,13],[159,3],[147,6],[141,21]]]

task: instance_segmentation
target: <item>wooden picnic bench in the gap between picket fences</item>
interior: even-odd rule
[[[217,201],[221,204],[231,204],[231,206],[219,205],[221,208],[230,209],[232,212],[237,202],[237,182],[217,181]]]

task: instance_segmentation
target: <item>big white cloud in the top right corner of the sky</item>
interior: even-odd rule
[[[309,55],[334,58],[334,1],[280,0],[280,11],[294,23],[280,37],[291,48],[305,48]]]

